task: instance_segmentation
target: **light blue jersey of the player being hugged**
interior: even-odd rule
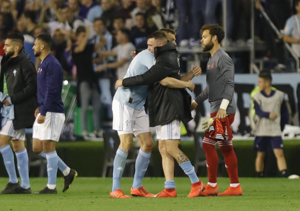
[[[149,50],[144,50],[137,54],[131,61],[124,78],[137,76],[145,73],[154,65],[154,55]],[[144,110],[147,98],[148,86],[119,87],[114,99],[136,110]]]

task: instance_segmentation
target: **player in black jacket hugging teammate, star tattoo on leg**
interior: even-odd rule
[[[180,167],[190,177],[192,189],[188,197],[197,197],[202,195],[204,185],[199,181],[188,157],[178,148],[180,121],[188,122],[192,119],[189,111],[190,96],[184,89],[171,89],[162,86],[159,82],[168,76],[180,79],[179,55],[175,45],[167,40],[162,31],[156,31],[148,37],[148,49],[154,53],[155,65],[144,74],[119,79],[116,87],[149,85],[150,126],[157,126],[157,136],[161,140],[166,140],[167,152],[177,160]],[[169,192],[165,189],[155,197],[167,197],[168,195],[176,196],[175,188],[170,189]]]

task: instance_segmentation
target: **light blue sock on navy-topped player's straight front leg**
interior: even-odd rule
[[[57,169],[58,169],[58,155],[56,151],[46,153],[47,158],[47,172],[48,172],[48,184],[49,185],[55,185],[56,186],[56,175],[57,175]],[[55,187],[54,187],[55,188]],[[54,189],[52,188],[52,189]]]

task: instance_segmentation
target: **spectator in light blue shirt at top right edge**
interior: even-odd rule
[[[300,0],[296,0],[294,5],[297,13],[286,21],[283,31],[283,41],[291,43],[292,49],[298,58],[300,58]]]

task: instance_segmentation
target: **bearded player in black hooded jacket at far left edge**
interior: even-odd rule
[[[1,194],[31,194],[28,154],[24,140],[25,128],[31,127],[34,123],[34,110],[37,106],[37,74],[34,65],[24,53],[22,34],[8,35],[4,51],[0,77],[0,95],[3,103],[0,152],[9,176],[9,183]],[[21,187],[16,175],[14,154],[8,145],[10,140],[18,160]]]

